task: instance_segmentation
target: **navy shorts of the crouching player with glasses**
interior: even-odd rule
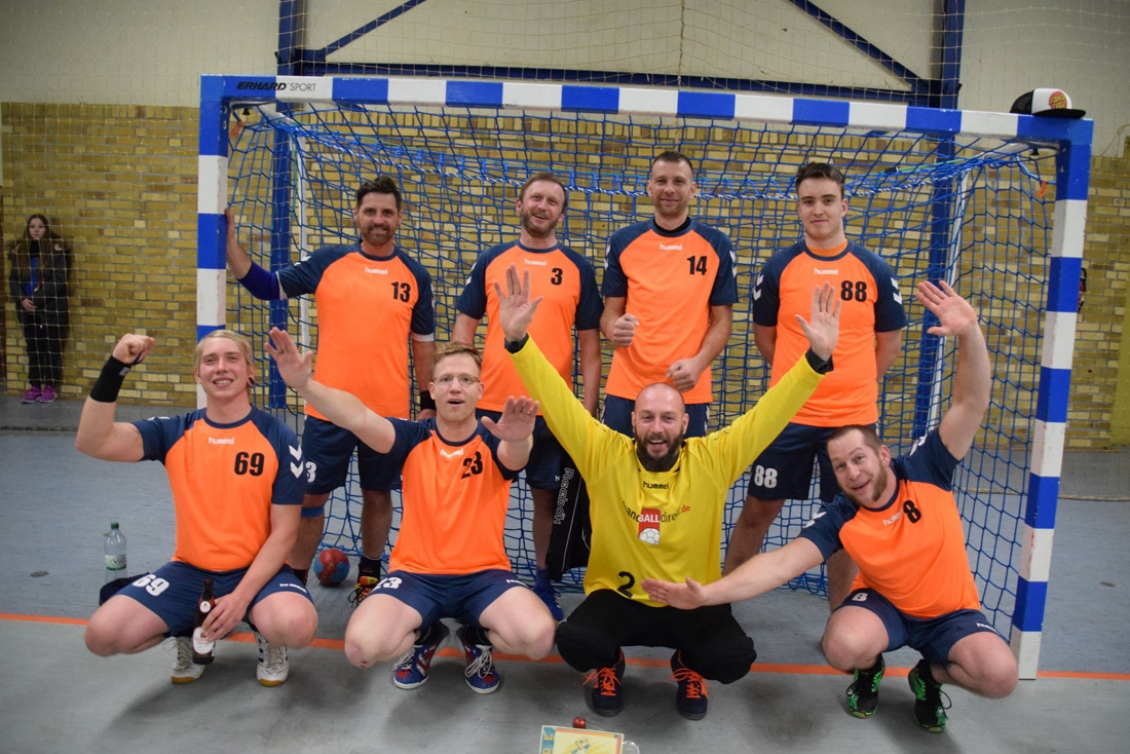
[[[377,592],[395,597],[424,618],[427,627],[440,618],[455,618],[467,625],[481,626],[483,610],[511,589],[525,589],[510,571],[498,569],[463,575],[436,575],[393,571],[373,587]],[[195,605],[193,604],[193,607]]]

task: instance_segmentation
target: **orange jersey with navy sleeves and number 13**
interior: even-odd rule
[[[320,249],[277,274],[287,296],[314,294],[314,379],[351,392],[381,416],[407,418],[409,337],[435,338],[432,277],[424,266],[399,249],[376,258],[353,244]],[[325,418],[313,407],[306,413]]]

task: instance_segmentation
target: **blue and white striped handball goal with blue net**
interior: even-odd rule
[[[241,242],[277,268],[355,240],[354,191],[391,174],[405,199],[399,245],[433,276],[438,339],[478,253],[514,237],[518,188],[536,171],[568,188],[558,235],[602,269],[608,235],[651,215],[651,158],[695,163],[692,211],[733,241],[741,301],[715,370],[714,426],[747,410],[767,370],[753,345],[754,270],[801,229],[792,180],[807,162],[847,175],[847,234],[898,276],[911,324],[880,395],[881,430],[906,447],[935,426],[954,344],[927,333],[911,293],[946,279],[977,307],[993,358],[982,433],[955,478],[985,614],[1009,636],[1020,675],[1040,657],[1062,462],[1089,180],[1089,120],[716,90],[438,78],[205,76],[200,106],[198,336],[243,330],[262,354],[271,326],[316,341],[308,302],[251,300],[225,274],[224,209]],[[296,428],[293,393],[271,373],[257,402]],[[748,479],[728,500],[732,527]],[[507,551],[533,567],[529,493],[515,485]],[[356,552],[359,491],[327,509],[323,544]],[[811,501],[785,506],[767,546],[796,536]],[[724,541],[724,539],[723,539]],[[580,589],[570,574],[565,589]],[[808,578],[810,577],[810,578]],[[792,584],[823,592],[820,573]]]

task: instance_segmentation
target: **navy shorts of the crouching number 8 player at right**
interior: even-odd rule
[[[889,639],[884,651],[910,647],[922,652],[929,662],[948,662],[949,650],[968,635],[994,633],[1000,636],[981,610],[956,610],[936,618],[912,618],[873,589],[857,589],[840,607],[847,606],[863,607],[879,616]]]

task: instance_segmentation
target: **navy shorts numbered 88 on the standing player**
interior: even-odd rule
[[[834,431],[790,423],[749,468],[747,494],[757,500],[808,500],[815,460],[820,474],[820,500],[832,502],[840,492],[828,460],[828,436]]]

